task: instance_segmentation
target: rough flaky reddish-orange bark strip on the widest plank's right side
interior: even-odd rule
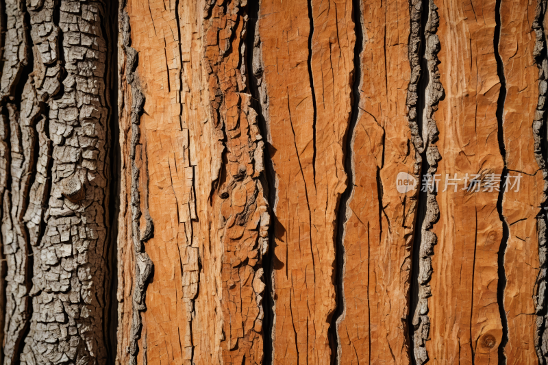
[[[246,66],[247,4],[208,1],[204,65],[212,141],[211,204],[223,250],[221,281],[224,364],[262,362],[263,256],[270,214],[262,183],[264,140],[251,108]],[[236,66],[237,65],[237,66]]]

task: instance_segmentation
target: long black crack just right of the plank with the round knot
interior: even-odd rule
[[[504,110],[504,101],[506,100],[506,78],[504,77],[504,67],[499,53],[499,42],[501,39],[501,0],[497,0],[495,3],[495,34],[493,36],[493,49],[495,51],[495,60],[497,60],[497,75],[501,83],[501,88],[499,91],[499,99],[497,100],[497,137],[499,140],[499,149],[504,162],[504,167],[502,169],[502,177],[505,178],[508,175],[508,167],[506,166],[506,147],[504,145],[504,133],[503,133],[503,110]],[[506,270],[504,269],[504,255],[506,253],[506,247],[508,245],[508,237],[510,235],[510,230],[508,228],[508,222],[503,216],[502,210],[502,200],[504,196],[504,189],[501,188],[499,191],[499,197],[497,199],[497,212],[499,212],[499,218],[502,222],[502,240],[499,247],[498,255],[498,274],[499,281],[497,284],[497,302],[499,304],[499,314],[501,316],[501,325],[502,325],[502,339],[499,344],[499,364],[506,364],[506,355],[504,353],[504,348],[508,343],[508,318],[506,318],[506,312],[504,310],[504,290],[506,289]]]

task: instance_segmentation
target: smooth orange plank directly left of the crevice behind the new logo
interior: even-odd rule
[[[410,6],[411,12],[398,10]],[[406,316],[419,190],[400,194],[392,187],[400,172],[420,180],[417,147],[422,143],[415,109],[420,65],[414,54],[420,35],[408,44],[411,16],[420,12],[420,1],[361,2],[366,36],[360,57],[360,112],[352,136],[355,175],[345,225],[339,364],[410,364]]]

